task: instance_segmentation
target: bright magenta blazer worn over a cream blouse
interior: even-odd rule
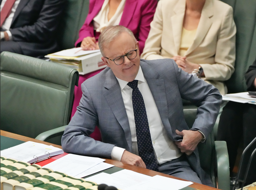
[[[75,47],[80,47],[82,40],[87,37],[99,38],[99,33],[93,29],[93,18],[100,12],[104,0],[90,0],[89,13],[85,23],[79,30],[79,39]],[[150,30],[150,22],[153,20],[157,0],[126,0],[123,15],[119,25],[129,28],[139,41],[140,54],[144,49],[145,41]]]

